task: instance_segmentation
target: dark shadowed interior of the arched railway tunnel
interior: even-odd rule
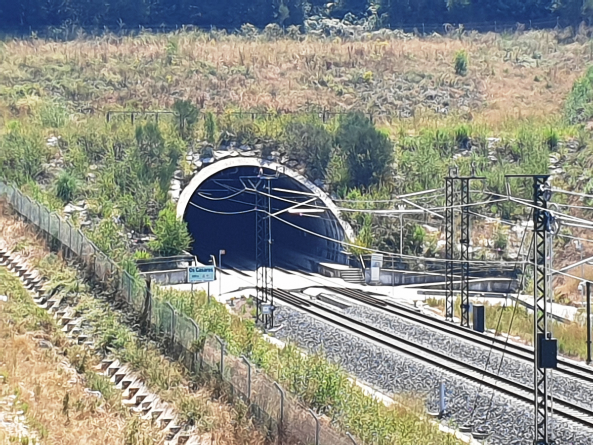
[[[257,190],[267,193],[268,180],[258,178],[259,167],[231,167],[213,174],[193,192],[184,213],[184,220],[193,237],[192,253],[202,263],[220,249],[222,267],[243,270],[256,268],[256,205]],[[274,175],[272,169],[263,174]],[[257,184],[259,183],[259,186]],[[336,241],[343,240],[344,231],[336,215],[311,190],[296,179],[279,174],[270,180],[272,214],[297,203],[308,212],[284,211],[271,218],[272,265],[290,270],[317,272],[319,262],[346,264],[347,256]],[[267,202],[266,202],[267,204]],[[264,209],[267,211],[267,206]],[[311,232],[311,233],[307,233]]]

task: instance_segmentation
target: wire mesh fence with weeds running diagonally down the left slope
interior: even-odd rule
[[[17,187],[0,181],[0,198],[34,225],[66,258],[78,259],[97,279],[107,282],[117,295],[141,314],[141,328],[163,339],[167,354],[192,374],[214,376],[231,400],[247,403],[252,417],[277,443],[350,445],[352,438],[331,427],[327,417],[318,417],[246,357],[228,354],[224,342],[200,332],[195,320],[179,313],[168,302],[152,298],[141,279],[135,279],[108,258],[95,244],[46,206],[25,196]]]

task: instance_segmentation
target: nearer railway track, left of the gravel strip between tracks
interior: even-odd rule
[[[449,357],[449,355],[434,351],[431,348],[424,347],[390,333],[385,333],[374,326],[369,326],[364,322],[347,317],[337,309],[330,309],[327,305],[318,304],[315,303],[315,301],[299,297],[290,291],[275,288],[273,293],[276,299],[292,304],[331,325],[345,328],[362,338],[390,349],[403,352],[409,357],[416,358],[424,363],[429,363],[442,370],[448,371],[458,378],[466,379],[477,384],[483,384],[484,386],[499,393],[503,393],[506,396],[524,403],[533,404],[533,388],[530,386],[514,382],[506,377],[497,376],[490,371],[484,371],[482,368]],[[562,417],[570,421],[593,428],[593,411],[576,405],[576,403],[570,402],[569,400],[564,400],[557,396],[554,397],[554,412],[562,415]]]

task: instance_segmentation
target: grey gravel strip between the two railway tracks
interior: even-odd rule
[[[398,336],[435,349],[436,351],[446,352],[454,358],[463,360],[466,363],[471,363],[477,367],[487,369],[494,373],[499,372],[500,376],[508,377],[522,384],[533,387],[533,367],[524,361],[518,360],[515,357],[505,355],[502,358],[502,353],[492,352],[490,349],[472,344],[464,341],[448,333],[439,332],[435,335],[435,329],[419,325],[400,317],[385,314],[380,310],[370,309],[364,306],[352,306],[343,311],[349,317],[373,325],[384,330],[384,332],[392,333]],[[488,358],[490,355],[490,359]],[[500,360],[502,366],[500,366]],[[553,373],[553,390],[554,394],[562,395],[566,400],[574,402],[585,408],[593,408],[593,384],[584,383],[573,377],[563,376],[562,373],[556,371]]]

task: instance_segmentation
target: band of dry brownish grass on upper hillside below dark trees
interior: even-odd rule
[[[457,111],[496,128],[518,118],[549,120],[559,112],[573,81],[591,61],[591,47],[581,41],[561,45],[555,31],[386,42],[264,42],[204,33],[66,43],[14,40],[0,50],[0,83],[33,82],[33,89],[37,84],[45,94],[95,110],[113,104],[162,109],[184,97],[221,110],[229,105],[298,110],[310,104],[329,109],[371,104],[394,114],[406,101],[422,110],[426,91],[444,87],[451,97],[463,96],[464,90],[479,93],[480,99],[469,97],[467,109]],[[460,49],[468,53],[466,77],[456,76],[452,67]],[[355,81],[365,72],[372,73],[370,80]],[[426,76],[406,83],[413,87],[412,97],[398,91],[401,77],[409,73]],[[385,100],[390,97],[385,91],[393,93],[393,103]],[[21,96],[12,109],[23,112],[29,106]],[[451,109],[455,113],[454,103]],[[429,119],[431,113],[425,112]]]

